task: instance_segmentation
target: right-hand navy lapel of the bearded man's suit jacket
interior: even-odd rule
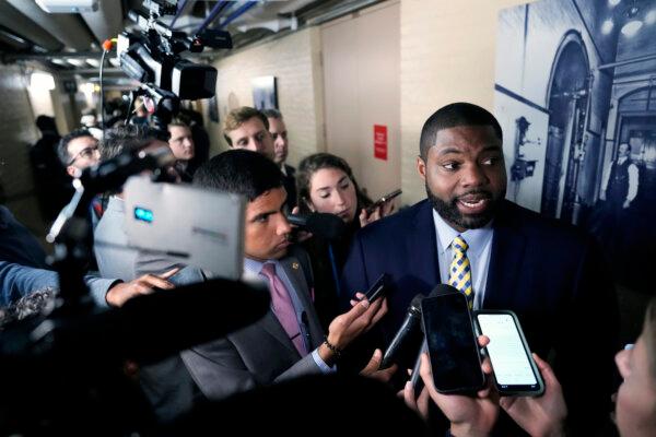
[[[522,274],[526,251],[526,236],[514,223],[512,204],[507,201],[501,206],[494,220],[492,253],[488,271],[488,283],[483,308],[496,308],[499,303],[514,302],[517,283]]]

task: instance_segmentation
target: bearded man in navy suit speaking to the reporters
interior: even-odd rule
[[[531,350],[554,353],[574,425],[598,426],[610,406],[619,328],[612,282],[593,239],[504,199],[501,127],[476,105],[452,104],[426,120],[417,168],[427,199],[356,235],[342,290],[391,276],[380,323],[389,342],[417,293],[453,283],[449,264],[456,241],[465,240],[473,309],[514,310]]]

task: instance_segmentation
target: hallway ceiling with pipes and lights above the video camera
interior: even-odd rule
[[[141,10],[155,0],[97,0],[95,12],[47,13],[35,0],[0,0],[0,62],[27,62],[46,70],[82,76],[97,75],[101,45],[121,31],[138,29],[128,17],[131,10]],[[175,0],[156,0],[159,3]],[[178,15],[174,28],[195,33],[200,24],[218,10],[210,28],[226,29],[233,38],[234,49],[274,38],[305,25],[318,24],[382,0],[178,0]],[[71,4],[75,1],[71,0]],[[169,25],[173,16],[161,22]],[[225,25],[226,21],[229,22]],[[214,59],[226,50],[206,48],[202,57]],[[189,58],[188,52],[183,57]],[[106,64],[108,78],[125,78],[110,59]]]

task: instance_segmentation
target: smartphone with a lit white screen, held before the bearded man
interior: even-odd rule
[[[485,347],[496,389],[501,395],[540,395],[544,382],[522,331],[517,315],[509,310],[478,310],[476,322],[490,338]]]

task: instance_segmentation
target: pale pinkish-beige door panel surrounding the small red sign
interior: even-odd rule
[[[401,186],[399,40],[398,1],[321,26],[327,151],[374,199]],[[387,160],[374,157],[374,125],[387,128]]]

